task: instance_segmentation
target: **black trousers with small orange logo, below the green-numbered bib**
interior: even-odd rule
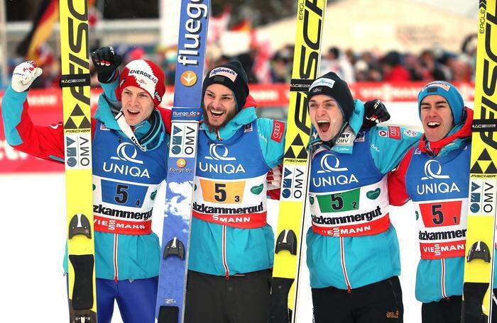
[[[348,293],[334,287],[312,288],[315,323],[403,322],[402,290],[397,276]]]

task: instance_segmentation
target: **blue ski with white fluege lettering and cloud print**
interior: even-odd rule
[[[210,0],[182,0],[155,317],[182,323]]]

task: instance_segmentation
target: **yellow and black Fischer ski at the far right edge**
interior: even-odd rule
[[[497,184],[496,85],[496,0],[480,0],[461,313],[461,322],[465,323],[486,323],[491,318]]]

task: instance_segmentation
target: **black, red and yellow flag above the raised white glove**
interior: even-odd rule
[[[17,55],[26,57],[26,60],[33,60],[38,65],[42,64],[43,62],[40,62],[40,47],[50,37],[53,24],[58,21],[58,18],[59,0],[43,0],[38,13],[36,13],[31,31],[16,48]]]

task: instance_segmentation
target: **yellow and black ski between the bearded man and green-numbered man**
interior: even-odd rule
[[[297,1],[297,33],[293,54],[290,103],[288,106],[280,210],[276,230],[273,284],[271,287],[272,323],[295,322],[300,246],[305,219],[307,175],[310,162],[307,143],[310,118],[306,93],[317,77],[321,58],[325,0]]]

